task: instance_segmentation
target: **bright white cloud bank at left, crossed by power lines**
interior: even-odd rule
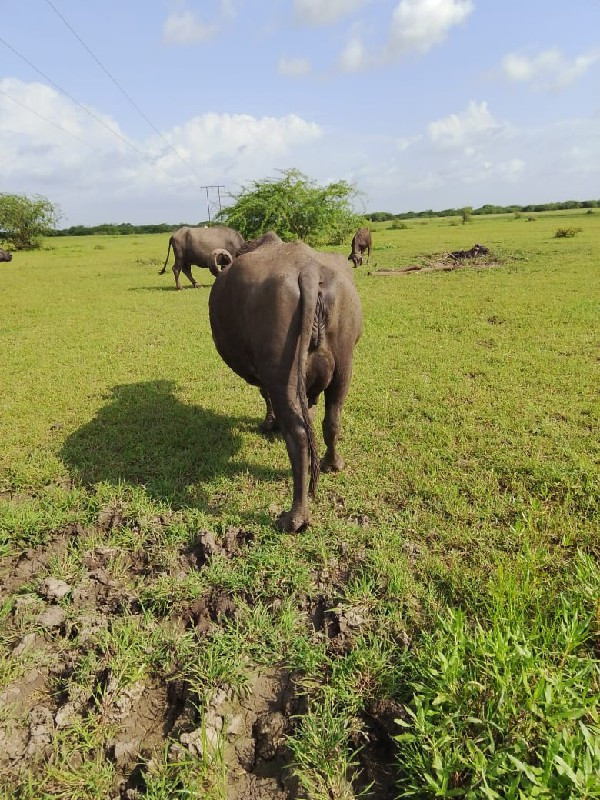
[[[124,135],[113,119],[94,114]],[[292,166],[322,135],[316,123],[294,114],[207,113],[163,131],[171,148],[151,136],[133,140],[134,150],[54,89],[0,80],[3,191],[47,195],[63,208],[67,225],[193,221],[189,209],[200,202],[200,184],[226,183],[231,190],[272,174],[274,164]]]

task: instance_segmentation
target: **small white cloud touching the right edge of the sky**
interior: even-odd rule
[[[563,89],[600,61],[600,50],[577,56],[569,61],[560,50],[543,50],[536,56],[508,53],[502,60],[501,72],[512,81],[529,83],[537,89]]]

